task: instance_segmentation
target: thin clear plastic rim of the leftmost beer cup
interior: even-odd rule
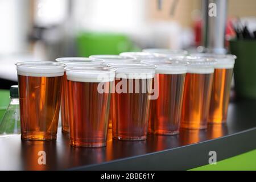
[[[45,66],[39,66],[45,65]],[[28,67],[28,68],[64,68],[67,64],[64,63],[56,63],[54,61],[18,61],[15,63],[17,67]],[[47,67],[47,65],[52,65],[52,67]]]

